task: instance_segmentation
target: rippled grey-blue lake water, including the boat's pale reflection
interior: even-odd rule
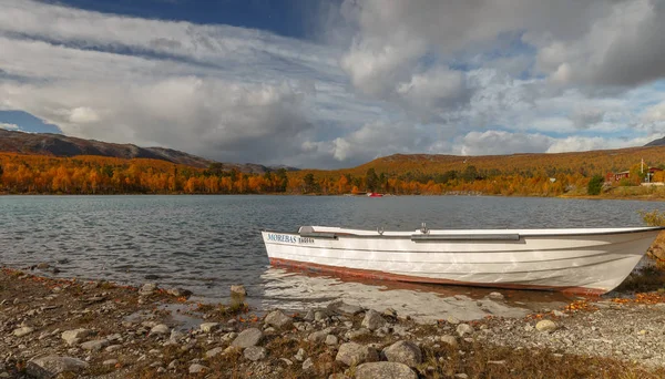
[[[341,295],[356,303],[401,297],[428,304],[431,296],[478,290],[269,268],[258,232],[300,225],[416,229],[421,222],[430,228],[638,226],[638,209],[663,208],[657,202],[467,196],[0,196],[0,264],[48,262],[63,277],[156,281],[212,299],[226,298],[229,285],[242,283],[257,308],[295,309]]]

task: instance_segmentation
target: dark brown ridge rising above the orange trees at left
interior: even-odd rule
[[[187,154],[177,150],[164,147],[140,147],[133,144],[117,144],[95,140],[83,140],[62,134],[23,133],[0,129],[0,152],[38,154],[49,156],[71,157],[78,155],[95,155],[124,160],[149,158],[183,164],[193,167],[208,167],[217,163],[201,156]],[[280,167],[269,167],[259,164],[222,163],[224,170],[235,168],[243,173],[263,174]],[[285,167],[287,171],[297,168]]]

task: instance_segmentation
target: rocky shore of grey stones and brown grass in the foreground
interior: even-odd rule
[[[665,296],[418,324],[342,300],[257,317],[145,284],[0,273],[0,378],[663,378]],[[505,301],[493,293],[483,304]]]

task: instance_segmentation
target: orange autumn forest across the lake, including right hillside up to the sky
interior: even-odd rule
[[[658,156],[648,163],[662,166],[656,161],[665,163],[665,148],[653,148],[656,151],[648,152],[649,156]],[[499,157],[396,155],[350,170],[278,170],[264,174],[242,173],[219,163],[198,168],[147,158],[0,153],[0,193],[583,195],[594,175],[604,176],[612,170],[636,173],[637,156],[643,153],[623,150]],[[632,178],[613,185],[640,184],[638,174]]]

